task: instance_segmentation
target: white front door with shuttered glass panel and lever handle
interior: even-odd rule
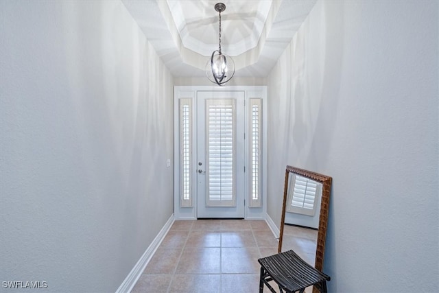
[[[244,218],[244,98],[197,93],[197,218]]]

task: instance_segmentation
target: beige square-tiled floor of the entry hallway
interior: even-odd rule
[[[307,243],[287,239],[298,248]],[[277,246],[263,220],[176,221],[132,292],[259,292],[257,260]]]

